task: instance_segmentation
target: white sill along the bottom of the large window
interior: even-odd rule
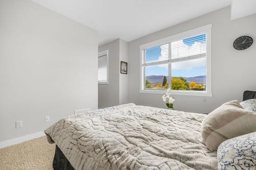
[[[151,94],[164,94],[166,90],[140,90],[140,93],[151,93]],[[189,90],[172,90],[170,94],[174,95],[194,95],[194,96],[212,96],[212,92],[209,91],[189,91]]]

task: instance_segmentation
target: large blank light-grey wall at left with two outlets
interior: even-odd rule
[[[0,23],[0,141],[97,108],[96,31],[25,0],[0,1]]]

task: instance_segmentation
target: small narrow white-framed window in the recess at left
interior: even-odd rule
[[[109,83],[109,51],[100,52],[98,55],[98,84]]]

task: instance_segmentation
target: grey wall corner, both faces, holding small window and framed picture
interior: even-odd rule
[[[98,85],[98,107],[105,108],[128,103],[128,73],[120,74],[121,61],[128,62],[128,43],[116,39],[99,46],[99,52],[109,50],[109,84]]]

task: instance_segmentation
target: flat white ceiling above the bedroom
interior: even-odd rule
[[[99,32],[99,45],[150,33],[231,5],[231,0],[32,0]]]

